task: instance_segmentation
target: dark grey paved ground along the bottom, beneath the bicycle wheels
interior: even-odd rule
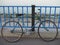
[[[60,39],[56,39],[52,42],[44,42],[39,39],[24,39],[17,43],[8,43],[0,38],[0,45],[60,45]]]

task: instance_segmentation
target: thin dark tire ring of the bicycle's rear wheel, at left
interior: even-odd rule
[[[5,33],[3,32],[3,31],[4,31],[4,27],[6,26],[6,24],[11,23],[11,22],[17,23],[17,24],[19,25],[19,30],[20,30],[20,28],[21,28],[21,31],[22,31],[22,32],[21,32],[21,35],[19,35],[20,33],[18,34],[18,36],[19,36],[18,39],[16,39],[16,40],[14,39],[14,40],[12,40],[12,41],[6,39],[6,37],[7,37],[7,38],[12,38],[12,36],[9,37],[9,36],[6,35],[6,36],[4,37]],[[11,23],[11,24],[12,24],[12,23]],[[9,30],[9,29],[8,29],[8,30]],[[6,31],[7,31],[7,29],[6,29]],[[9,33],[8,33],[8,34],[9,34]],[[10,34],[9,34],[9,35],[10,35]],[[13,33],[12,33],[11,35],[15,35],[15,37],[14,37],[14,36],[13,36],[13,37],[14,37],[14,38],[17,38],[17,34],[15,34],[15,33],[13,34]],[[18,42],[18,41],[22,38],[22,35],[23,35],[22,26],[19,24],[19,22],[16,22],[16,21],[8,21],[8,22],[6,22],[6,23],[2,26],[2,28],[1,28],[1,36],[2,36],[2,38],[3,38],[5,41],[7,41],[7,42],[10,42],[10,43]]]

